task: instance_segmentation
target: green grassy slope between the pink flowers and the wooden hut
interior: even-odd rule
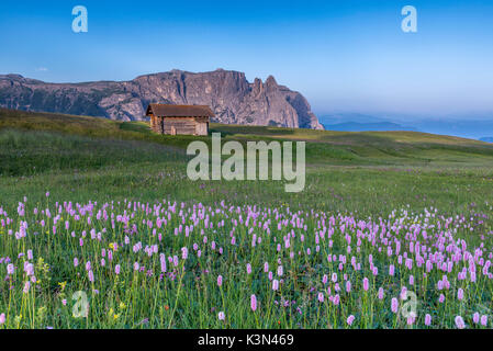
[[[41,201],[49,190],[71,201],[229,200],[377,215],[407,204],[474,212],[493,199],[486,143],[412,132],[211,129],[243,141],[309,141],[305,190],[289,194],[270,181],[191,182],[184,148],[197,138],[156,135],[145,123],[0,110],[0,204],[14,206],[23,195]]]

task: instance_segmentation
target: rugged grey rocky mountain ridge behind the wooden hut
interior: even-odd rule
[[[0,75],[0,106],[7,109],[141,121],[148,103],[209,105],[213,122],[225,124],[323,129],[306,99],[272,76],[250,83],[238,71],[171,70],[122,82],[46,83]]]

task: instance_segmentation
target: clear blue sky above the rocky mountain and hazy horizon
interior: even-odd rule
[[[88,33],[71,30],[79,4]],[[417,33],[401,30],[407,4]],[[0,47],[0,73],[45,81],[224,68],[273,75],[317,114],[493,112],[490,0],[2,0]]]

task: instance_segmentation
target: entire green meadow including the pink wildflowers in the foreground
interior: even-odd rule
[[[0,328],[493,326],[492,146],[213,128],[307,140],[305,190],[190,181],[191,138],[144,124],[0,111]]]

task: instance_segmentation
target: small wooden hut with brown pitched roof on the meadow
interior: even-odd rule
[[[170,105],[152,103],[146,116],[154,132],[169,135],[208,135],[214,113],[205,105]]]

